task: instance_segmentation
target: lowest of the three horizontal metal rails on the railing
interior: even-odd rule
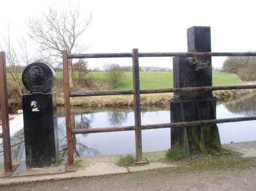
[[[157,129],[157,128],[180,128],[180,127],[189,127],[195,125],[202,125],[207,123],[231,123],[239,121],[252,121],[256,120],[256,116],[248,116],[242,118],[225,118],[225,119],[209,119],[202,121],[186,121],[179,123],[162,123],[154,125],[141,125],[142,130]],[[76,128],[72,130],[72,134],[93,134],[93,133],[104,133],[104,132],[124,132],[134,130],[134,126],[116,126],[110,128],[92,128],[92,129],[83,129]]]

